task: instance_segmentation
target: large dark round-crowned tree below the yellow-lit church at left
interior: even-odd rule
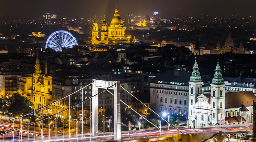
[[[12,113],[16,116],[23,116],[32,112],[33,103],[30,101],[28,97],[23,97],[20,94],[14,94],[10,98],[9,102],[9,113]],[[22,117],[22,122],[23,122]]]

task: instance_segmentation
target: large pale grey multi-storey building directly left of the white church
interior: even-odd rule
[[[159,114],[187,116],[189,72],[167,71],[150,82],[150,106]]]

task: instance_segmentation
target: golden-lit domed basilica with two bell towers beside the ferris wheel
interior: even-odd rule
[[[130,40],[126,37],[125,29],[126,27],[124,26],[116,7],[114,17],[108,28],[104,16],[100,38],[98,36],[98,24],[95,17],[92,30],[92,44],[130,43]]]

